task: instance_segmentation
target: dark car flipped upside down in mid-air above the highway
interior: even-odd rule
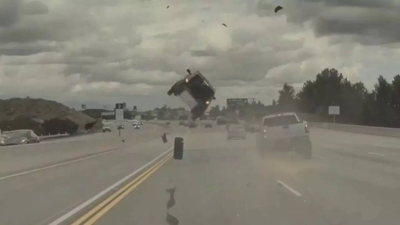
[[[199,71],[188,74],[178,80],[167,92],[168,95],[179,96],[190,107],[192,120],[196,120],[207,110],[212,100],[215,100],[215,89]]]

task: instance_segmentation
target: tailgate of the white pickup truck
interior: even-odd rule
[[[266,131],[264,132],[264,136],[266,136],[267,139],[278,139],[307,135],[303,123],[276,127],[264,127],[263,129],[264,131]]]

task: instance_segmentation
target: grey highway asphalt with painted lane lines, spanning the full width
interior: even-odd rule
[[[0,224],[398,224],[398,138],[311,129],[311,160],[262,158],[176,123],[0,149]]]

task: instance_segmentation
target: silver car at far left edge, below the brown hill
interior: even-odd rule
[[[2,135],[0,145],[24,145],[30,143],[40,143],[38,135],[32,130],[9,131]]]

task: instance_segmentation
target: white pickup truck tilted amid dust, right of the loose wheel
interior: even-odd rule
[[[263,117],[256,145],[262,155],[270,151],[295,151],[304,159],[312,155],[307,123],[300,122],[294,112]]]

